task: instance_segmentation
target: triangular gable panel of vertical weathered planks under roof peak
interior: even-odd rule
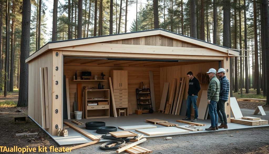
[[[197,46],[188,42],[179,41],[179,40],[165,37],[162,35],[136,37],[136,38],[130,38],[130,39],[107,41],[103,43],[203,48],[201,46]]]

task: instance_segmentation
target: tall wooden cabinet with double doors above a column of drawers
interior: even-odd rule
[[[114,98],[116,108],[126,109],[128,114],[128,71],[127,70],[111,70]]]

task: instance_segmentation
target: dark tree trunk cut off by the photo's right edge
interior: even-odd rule
[[[263,14],[263,33],[264,33],[264,51],[269,51],[269,8],[268,8],[268,1],[261,0],[262,2],[262,14]],[[269,54],[265,54],[265,59],[269,59]],[[269,63],[266,63],[266,72],[269,70]],[[269,76],[266,76],[266,96],[269,98]],[[266,100],[266,104],[269,105],[269,99]]]

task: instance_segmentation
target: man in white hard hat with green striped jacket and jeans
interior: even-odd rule
[[[209,69],[207,73],[211,79],[207,90],[207,104],[208,113],[210,114],[211,119],[211,126],[206,128],[206,131],[215,131],[218,129],[217,103],[219,101],[220,81],[216,77],[217,71],[215,69]]]

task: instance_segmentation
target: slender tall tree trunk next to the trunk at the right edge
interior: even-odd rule
[[[255,74],[256,74],[256,87],[257,95],[261,94],[260,89],[260,70],[259,70],[259,55],[258,55],[258,36],[257,36],[257,9],[256,0],[253,1],[253,11],[254,11],[254,49],[255,49]]]

